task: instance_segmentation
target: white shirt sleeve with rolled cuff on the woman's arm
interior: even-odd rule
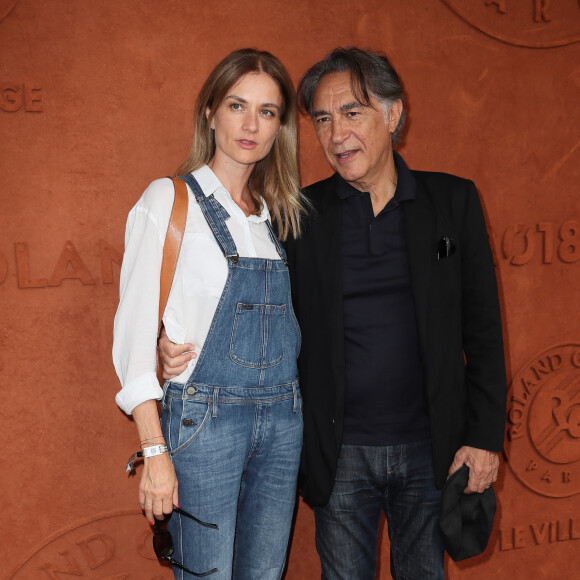
[[[113,330],[113,363],[122,386],[115,400],[127,414],[163,394],[156,376],[159,277],[173,197],[170,180],[154,181],[127,218]]]

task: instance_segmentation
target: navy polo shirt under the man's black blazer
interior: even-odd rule
[[[402,206],[415,178],[394,152],[397,188],[378,215],[369,193],[337,175],[342,199],[346,347],[343,443],[397,445],[429,438]]]

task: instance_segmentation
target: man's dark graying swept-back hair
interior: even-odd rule
[[[324,75],[336,72],[350,73],[352,94],[361,105],[372,106],[375,97],[385,112],[398,99],[403,110],[397,128],[391,135],[395,145],[401,138],[405,123],[405,99],[397,72],[387,57],[380,52],[363,50],[354,46],[336,48],[323,60],[311,66],[298,83],[298,107],[304,114],[312,116],[314,93]]]

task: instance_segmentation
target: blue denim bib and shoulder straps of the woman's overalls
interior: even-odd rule
[[[191,175],[182,179],[195,195],[228,264],[224,290],[185,391],[197,393],[196,399],[211,399],[212,414],[217,413],[218,402],[255,399],[258,391],[260,399],[269,394],[279,397],[276,387],[296,399],[300,331],[284,249],[268,223],[281,259],[240,257],[226,225],[229,214],[214,196],[203,193]]]

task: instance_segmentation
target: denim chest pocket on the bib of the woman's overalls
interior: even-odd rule
[[[232,328],[230,358],[245,367],[264,369],[284,356],[286,305],[239,302]]]

